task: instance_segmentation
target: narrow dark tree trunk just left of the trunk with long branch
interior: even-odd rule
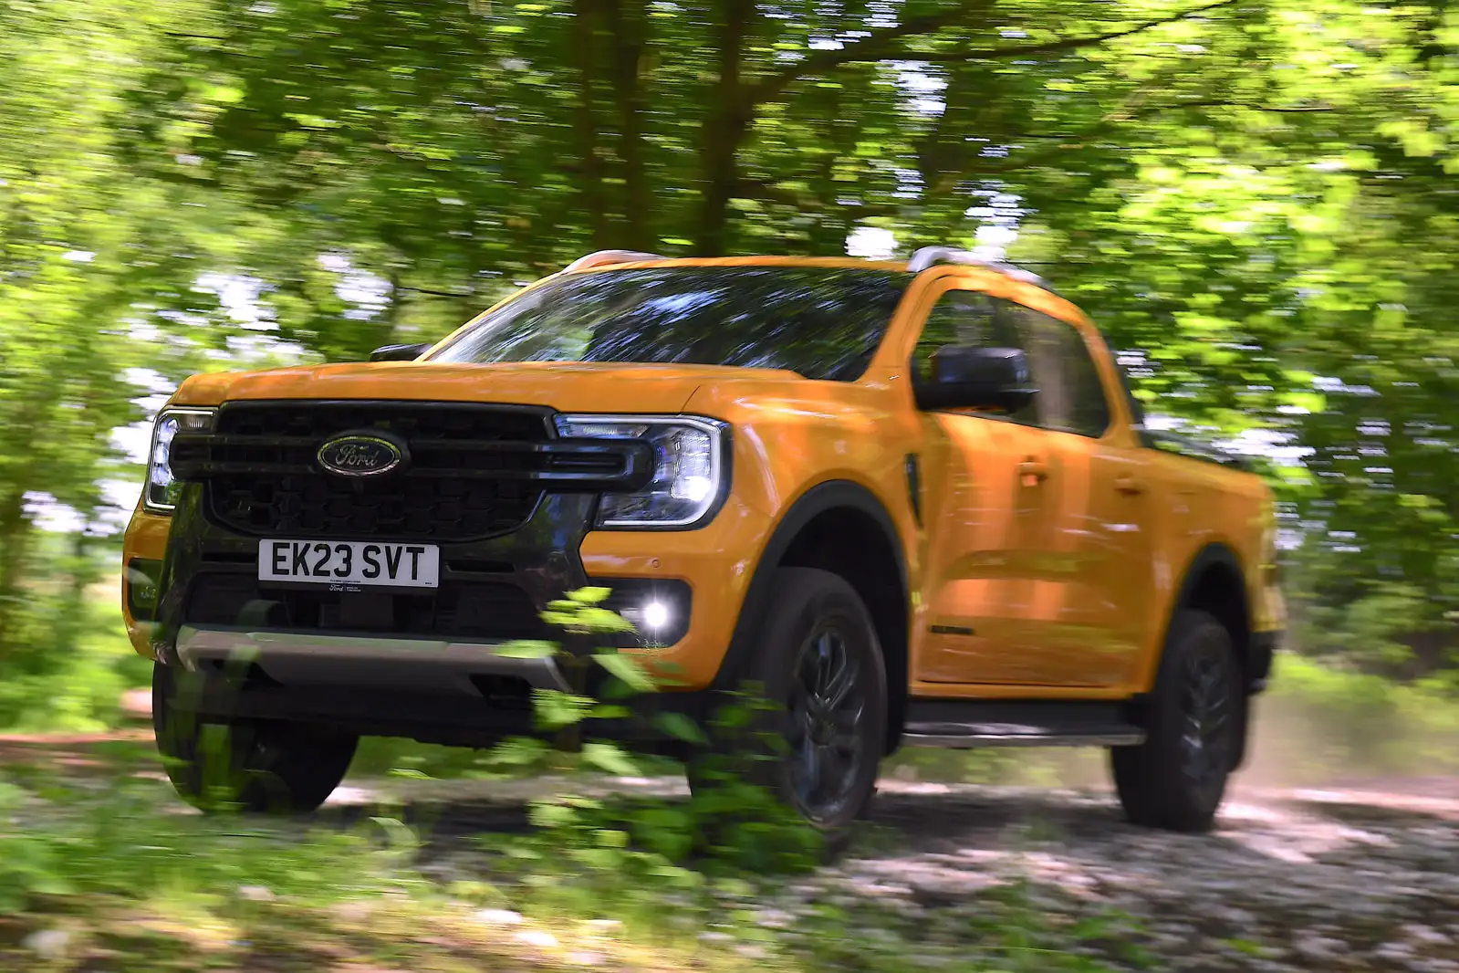
[[[652,194],[643,159],[643,92],[639,69],[648,42],[645,0],[607,0],[613,44],[613,99],[623,162],[623,241],[629,249],[654,249]]]

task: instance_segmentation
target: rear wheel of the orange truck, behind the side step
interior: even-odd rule
[[[1230,632],[1204,611],[1179,613],[1151,694],[1145,743],[1110,750],[1129,820],[1173,831],[1208,830],[1236,767],[1245,721]]]

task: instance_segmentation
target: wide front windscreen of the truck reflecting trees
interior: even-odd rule
[[[649,267],[569,274],[479,321],[433,362],[657,362],[861,378],[909,274]]]

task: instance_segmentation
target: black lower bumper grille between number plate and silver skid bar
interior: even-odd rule
[[[203,572],[193,581],[182,620],[201,626],[477,640],[550,636],[527,592],[506,581],[442,579],[432,591],[379,594],[260,588],[248,575]]]

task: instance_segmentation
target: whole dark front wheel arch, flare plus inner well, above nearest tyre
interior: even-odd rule
[[[887,667],[887,753],[902,738],[907,697],[907,567],[900,532],[877,496],[851,480],[820,483],[770,532],[712,684],[737,689],[754,649],[778,567],[820,567],[843,578],[871,613]]]

